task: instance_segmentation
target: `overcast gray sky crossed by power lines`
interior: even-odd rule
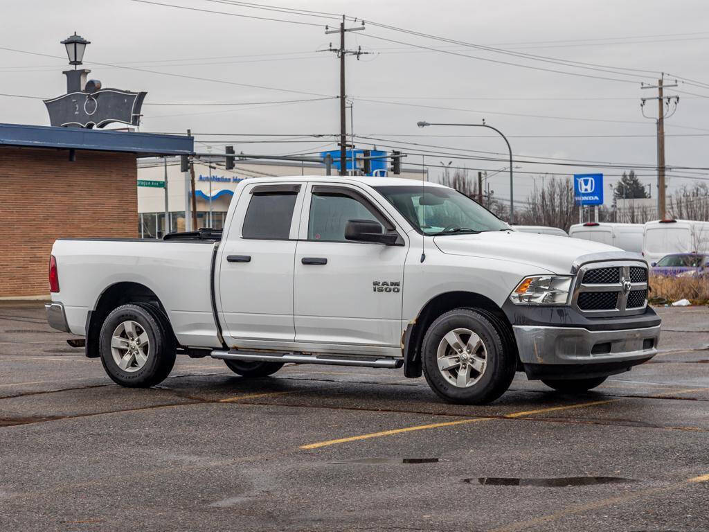
[[[198,136],[198,140],[206,143],[198,145],[199,148],[206,148],[208,144],[215,151],[223,150],[224,143],[233,144],[237,152],[245,153],[301,153],[320,150],[326,144],[328,148],[335,148],[336,140],[328,136],[290,138],[312,141],[308,143],[250,141],[262,140],[256,135],[264,133],[337,133],[336,99],[251,106],[157,104],[245,104],[335,96],[339,94],[335,54],[316,50],[328,48],[328,43],[337,41],[337,35],[324,33],[325,24],[337,21],[252,9],[228,1],[155,2],[316,26],[131,0],[3,0],[0,47],[58,57],[0,50],[0,92],[43,97],[63,94],[65,78],[61,72],[68,65],[59,41],[77,31],[91,40],[84,56],[84,67],[91,69],[89,77],[101,79],[104,87],[147,91],[141,131],[182,132],[191,128],[197,133],[242,135]],[[416,153],[429,150],[489,156],[459,151],[481,150],[501,154],[492,157],[506,157],[503,141],[494,136],[486,138],[481,128],[422,130],[416,127],[419,120],[479,123],[486,118],[489,124],[510,137],[515,155],[523,160],[556,157],[604,164],[655,165],[655,123],[643,118],[640,98],[657,96],[657,92],[640,89],[640,82],[655,83],[657,72],[669,72],[667,83],[674,82],[676,76],[702,82],[700,85],[709,83],[709,29],[706,25],[709,3],[703,0],[671,3],[647,0],[274,0],[273,4],[267,1],[259,1],[259,4],[346,13],[364,21],[465,43],[600,65],[593,68],[601,70],[590,70],[513,57],[366,23],[365,31],[347,35],[348,48],[361,45],[363,51],[372,52],[362,56],[359,62],[348,57],[347,94],[354,98],[354,133],[386,140],[359,139],[357,145],[362,148],[367,148],[364,142],[371,142],[383,149],[400,145]],[[97,65],[96,62],[140,70]],[[618,71],[604,72],[608,67]],[[703,96],[683,94],[686,92]],[[709,167],[706,149],[709,85],[697,87],[680,82],[677,89],[667,89],[666,94],[681,96],[676,113],[666,121],[667,164]],[[647,108],[646,113],[657,116],[656,102],[650,101]],[[48,124],[45,107],[37,99],[0,96],[0,109],[2,122]],[[504,162],[464,160],[455,155],[425,156],[425,164],[429,165],[447,164],[451,160],[453,166],[474,169],[495,170],[505,166]],[[420,155],[406,159],[407,165],[422,162]],[[531,191],[532,176],[544,172],[599,171],[608,176],[608,183],[610,179],[617,179],[610,176],[621,171],[593,166],[530,163],[520,163],[520,166],[515,179],[518,199],[525,198]],[[434,169],[431,172],[432,176],[439,173]],[[652,184],[655,196],[654,170],[637,170],[637,173],[644,183]],[[705,170],[674,170],[671,174],[709,179],[709,172]],[[492,177],[491,182],[498,196],[508,196],[504,172]],[[670,189],[691,182],[681,177],[669,179]],[[606,185],[606,196],[609,195]]]

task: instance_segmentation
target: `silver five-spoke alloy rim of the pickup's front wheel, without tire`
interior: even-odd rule
[[[478,382],[487,366],[483,340],[466,328],[453,329],[441,338],[436,355],[443,378],[459,388]]]

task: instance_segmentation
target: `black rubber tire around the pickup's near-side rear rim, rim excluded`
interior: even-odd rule
[[[123,370],[113,357],[111,339],[116,328],[126,321],[138,323],[150,342],[147,360],[142,367]],[[141,333],[142,334],[142,333]],[[175,363],[175,345],[160,311],[148,304],[126,304],[106,316],[99,336],[99,350],[104,370],[113,382],[130,388],[147,388],[162,382],[172,371]],[[137,360],[133,360],[138,366]]]

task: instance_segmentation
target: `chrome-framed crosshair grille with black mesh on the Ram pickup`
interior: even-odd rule
[[[647,267],[633,260],[581,265],[571,305],[596,317],[642,314],[647,301]]]

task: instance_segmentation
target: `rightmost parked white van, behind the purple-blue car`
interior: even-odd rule
[[[709,253],[709,222],[656,220],[644,224],[642,255],[651,265],[669,253]]]

